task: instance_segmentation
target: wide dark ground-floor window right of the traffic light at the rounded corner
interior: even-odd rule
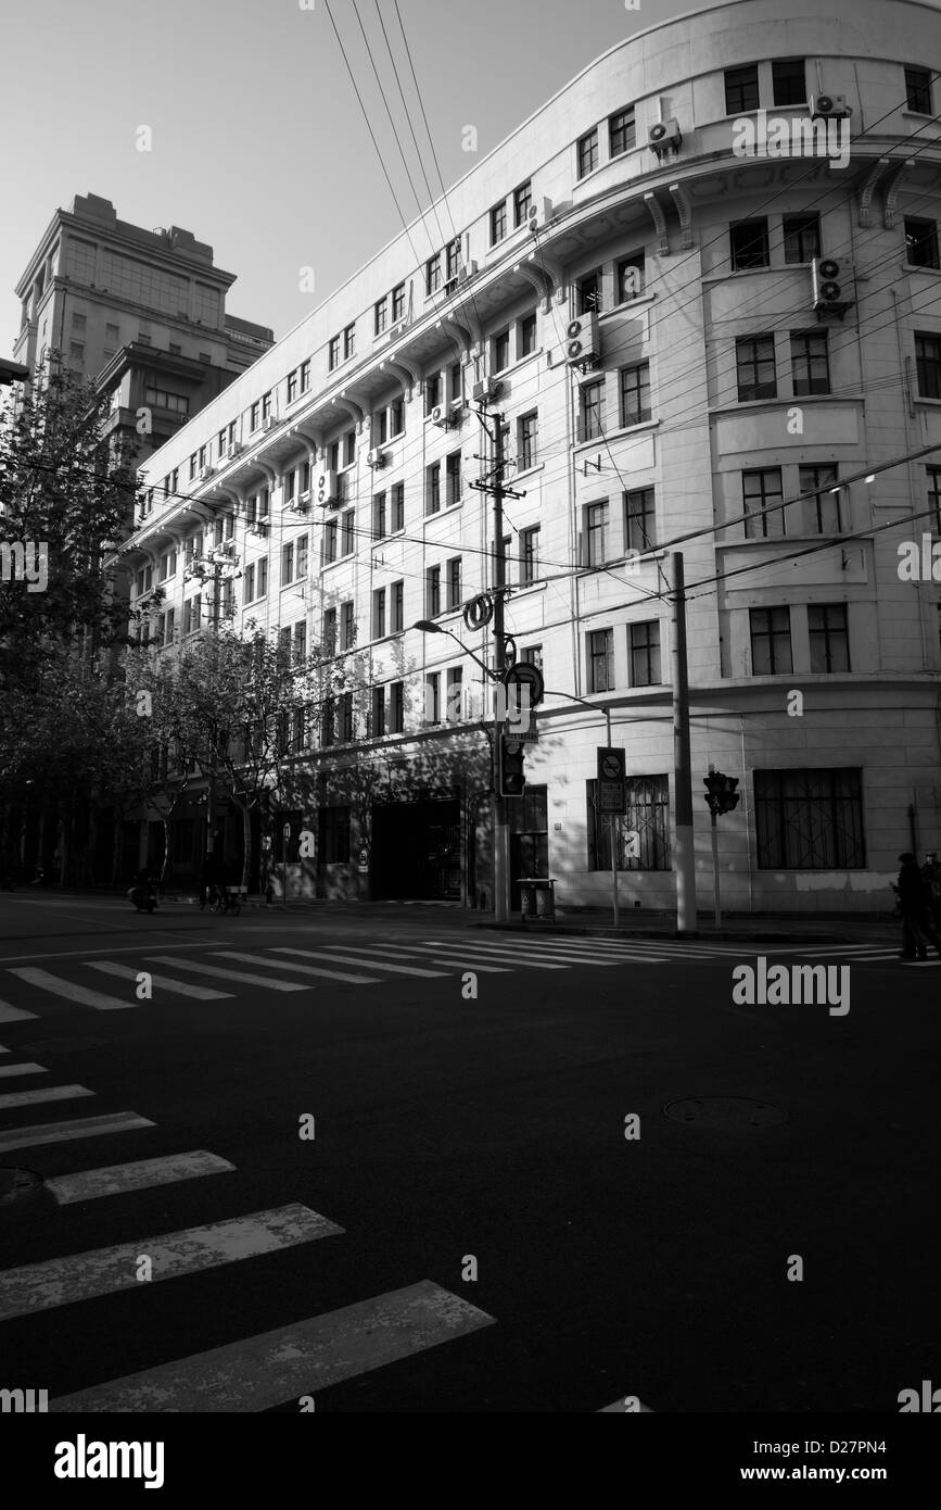
[[[864,870],[858,769],[756,770],[759,870]]]

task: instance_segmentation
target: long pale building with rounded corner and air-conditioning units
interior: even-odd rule
[[[941,522],[938,62],[941,17],[920,3],[739,0],[653,26],[152,458],[124,562],[142,593],[163,575],[161,642],[205,622],[199,584],[161,562],[214,532],[241,572],[235,624],[354,646],[366,667],[342,717],[299,729],[321,787],[294,818],[320,847],[285,856],[291,885],[490,895],[489,732],[466,698],[481,673],[413,625],[493,661],[493,624],[461,612],[495,589],[474,486],[490,465],[474,397],[493,382],[483,412],[502,417],[519,495],[507,631],[547,689],[513,877],[609,895],[594,797],[611,713],[621,903],[674,904],[674,550],[700,901],[712,766],[740,781],[719,820],[730,908],[884,909],[899,850],[941,847],[939,589],[900,563]],[[375,775],[368,802],[344,770]],[[198,809],[184,823],[179,865]]]

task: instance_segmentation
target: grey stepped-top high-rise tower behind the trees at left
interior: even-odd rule
[[[113,444],[143,461],[273,344],[267,326],[226,314],[234,281],[192,231],[146,231],[110,199],[77,195],[17,284],[14,355],[35,371],[59,352],[110,399]]]

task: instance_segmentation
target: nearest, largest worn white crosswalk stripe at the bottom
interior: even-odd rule
[[[50,1410],[268,1410],[493,1324],[486,1311],[424,1279],[277,1332],[54,1398]]]

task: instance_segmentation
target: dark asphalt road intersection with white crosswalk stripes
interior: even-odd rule
[[[936,1373],[941,963],[769,950],[849,1010],[739,1006],[760,944],[467,923],[2,897],[0,1166],[45,1184],[0,1203],[0,1388],[808,1413]]]

